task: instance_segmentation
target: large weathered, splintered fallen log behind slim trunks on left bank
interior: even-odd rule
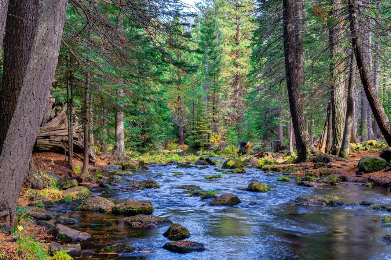
[[[34,150],[45,150],[63,154],[68,152],[68,120],[66,116],[66,104],[54,107],[54,116],[44,126],[39,127]],[[73,114],[73,139],[74,157],[83,160],[83,127],[79,119]],[[90,163],[95,163],[96,157],[90,147]]]

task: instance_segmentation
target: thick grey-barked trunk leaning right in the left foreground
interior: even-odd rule
[[[0,154],[0,222],[6,225],[14,225],[16,200],[54,79],[66,4],[66,0],[43,0],[40,5],[33,58]]]

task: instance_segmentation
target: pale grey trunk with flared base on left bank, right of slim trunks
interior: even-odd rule
[[[124,89],[119,87],[117,94],[117,110],[115,111],[115,147],[111,158],[116,161],[123,161],[126,158],[124,138],[124,104],[120,100],[124,95]]]

